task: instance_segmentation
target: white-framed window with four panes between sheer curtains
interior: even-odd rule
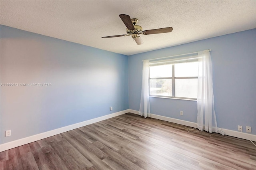
[[[151,62],[151,96],[197,99],[198,58]]]

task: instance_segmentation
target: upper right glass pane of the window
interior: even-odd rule
[[[174,64],[175,77],[197,77],[198,62]]]

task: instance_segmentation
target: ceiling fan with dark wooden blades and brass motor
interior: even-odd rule
[[[132,36],[132,38],[135,40],[135,42],[140,45],[143,43],[142,39],[140,38],[140,34],[142,35],[150,35],[150,34],[160,34],[160,33],[167,33],[172,32],[172,27],[167,28],[158,28],[154,30],[145,30],[142,31],[142,27],[135,25],[138,22],[138,19],[133,18],[131,19],[130,16],[126,14],[120,14],[119,15],[121,20],[124,22],[124,25],[126,26],[126,33],[122,35],[116,35],[116,36],[106,36],[102,38],[114,38],[114,37],[125,37],[125,36]]]

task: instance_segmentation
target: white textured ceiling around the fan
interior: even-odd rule
[[[107,51],[132,55],[256,28],[256,1],[0,1],[0,24]],[[118,16],[138,18],[143,30],[171,33],[128,37]]]

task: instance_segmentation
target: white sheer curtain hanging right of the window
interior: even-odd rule
[[[212,88],[212,61],[209,50],[198,52],[198,99],[197,128],[207,132],[218,132],[214,111],[214,96]]]

